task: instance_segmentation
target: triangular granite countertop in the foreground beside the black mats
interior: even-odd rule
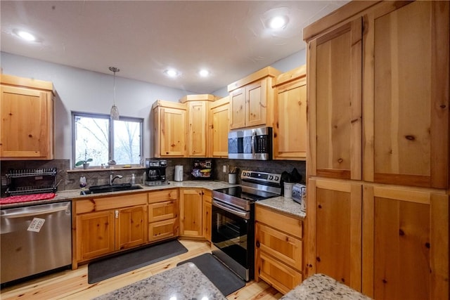
[[[226,299],[193,264],[184,263],[95,298],[105,299]]]

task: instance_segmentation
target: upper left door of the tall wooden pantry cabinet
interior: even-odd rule
[[[308,174],[361,179],[361,19],[309,42]]]

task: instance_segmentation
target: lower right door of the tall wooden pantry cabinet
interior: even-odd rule
[[[364,187],[363,293],[449,299],[449,195]]]

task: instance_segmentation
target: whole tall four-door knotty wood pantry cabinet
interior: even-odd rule
[[[448,1],[355,1],[304,30],[305,273],[449,299]]]

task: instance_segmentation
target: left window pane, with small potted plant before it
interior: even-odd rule
[[[75,116],[75,163],[87,158],[93,159],[90,166],[108,162],[109,119]]]

